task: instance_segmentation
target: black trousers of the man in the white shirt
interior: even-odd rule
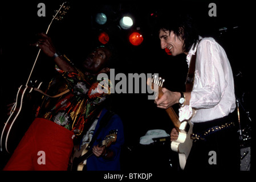
[[[194,123],[193,133],[204,133],[213,126],[234,122],[233,114],[224,118]],[[237,127],[229,127],[193,142],[184,171],[239,171],[240,147]]]

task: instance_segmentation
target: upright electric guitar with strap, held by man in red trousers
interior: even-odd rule
[[[62,5],[60,5],[59,10],[55,11],[56,14],[53,16],[50,24],[48,25],[46,34],[48,33],[52,22],[54,20],[62,20],[63,16],[67,13],[67,10],[70,8],[70,6],[67,6],[66,3],[67,2],[62,3]],[[24,124],[24,123],[19,123],[21,121],[17,122],[17,118],[22,110],[23,99],[27,96],[27,94],[30,94],[33,90],[43,93],[42,90],[39,89],[40,86],[42,85],[42,82],[40,82],[38,84],[35,81],[36,86],[34,86],[34,85],[28,86],[28,84],[30,82],[30,77],[34,70],[36,61],[38,60],[40,51],[41,51],[41,49],[39,49],[39,51],[38,51],[38,54],[36,56],[34,65],[32,67],[32,70],[30,72],[30,76],[27,80],[26,85],[19,86],[15,104],[13,105],[13,108],[11,109],[11,114],[10,114],[9,118],[7,119],[7,121],[5,122],[5,126],[3,127],[2,134],[1,134],[1,151],[7,151],[8,153],[13,152],[15,150],[15,148],[17,147],[19,140],[21,140],[21,138],[19,138],[18,136],[15,136],[15,134],[17,135],[17,130],[19,130],[19,126],[20,126],[19,124],[21,124],[21,125]],[[65,93],[67,93],[67,92],[65,92]],[[43,94],[47,95],[45,93],[43,93]],[[59,94],[57,96],[53,96],[53,97],[59,97],[62,94],[64,94],[64,93],[61,93],[61,94]]]

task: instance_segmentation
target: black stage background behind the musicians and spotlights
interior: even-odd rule
[[[37,15],[37,5],[40,2],[46,5],[46,17]],[[208,15],[208,5],[211,2],[217,5],[216,17]],[[62,1],[1,1],[1,126],[7,119],[6,105],[13,102],[18,87],[26,84],[34,64],[38,49],[31,47],[30,43],[35,42],[36,33],[47,30],[54,10],[61,3]],[[107,15],[108,21],[104,26],[97,26],[95,15],[101,11]],[[158,32],[155,30],[157,16],[168,11],[192,14],[200,35],[211,36],[224,47],[233,69],[237,98],[253,119],[255,20],[252,1],[70,1],[67,15],[61,22],[52,23],[48,35],[59,52],[65,53],[78,64],[91,49],[99,45],[97,35],[100,30],[107,31],[109,44],[116,49],[116,74],[159,73],[166,80],[166,88],[181,91],[185,89],[188,69],[185,55],[166,55],[160,47]],[[133,16],[134,25],[129,30],[117,27],[121,15],[125,13]],[[170,17],[170,20],[172,18],[174,17]],[[144,41],[140,46],[132,46],[128,36],[138,27]],[[227,27],[227,30],[220,31],[222,27]],[[53,74],[54,63],[41,54],[32,80],[46,84]],[[148,100],[147,97],[147,93],[113,94],[112,109],[123,119],[125,130],[123,169],[176,169],[177,154],[169,151],[169,147],[166,147],[168,142],[151,146],[139,144],[140,137],[148,130],[163,129],[170,133],[172,129],[172,122],[165,111],[158,109],[153,100]],[[174,109],[177,111],[177,106]],[[243,110],[241,122],[243,127],[248,123],[251,126]],[[7,158],[6,154],[1,155],[1,167]],[[169,166],[169,158],[173,167]]]

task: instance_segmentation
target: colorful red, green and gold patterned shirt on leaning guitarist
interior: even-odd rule
[[[52,78],[46,93],[54,96],[67,89],[70,92],[58,98],[43,96],[36,117],[53,121],[80,135],[84,124],[96,114],[97,106],[110,94],[111,82],[108,78],[97,80],[97,76],[86,76],[77,68],[78,73],[64,72],[57,65],[55,69],[59,76]]]

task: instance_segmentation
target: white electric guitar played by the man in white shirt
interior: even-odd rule
[[[157,94],[158,98],[161,98],[164,93],[162,93],[162,85],[164,84],[164,79],[153,75],[152,78],[148,78],[147,85],[151,86],[151,89]],[[186,159],[188,158],[189,152],[192,148],[193,141],[190,138],[193,129],[193,123],[190,122],[190,119],[196,113],[193,110],[192,117],[188,121],[182,121],[178,119],[177,114],[172,107],[165,109],[166,113],[169,115],[169,118],[172,120],[174,127],[178,131],[178,138],[176,141],[171,142],[170,147],[173,151],[178,152],[178,158],[180,162],[180,167],[183,170],[186,165]]]

